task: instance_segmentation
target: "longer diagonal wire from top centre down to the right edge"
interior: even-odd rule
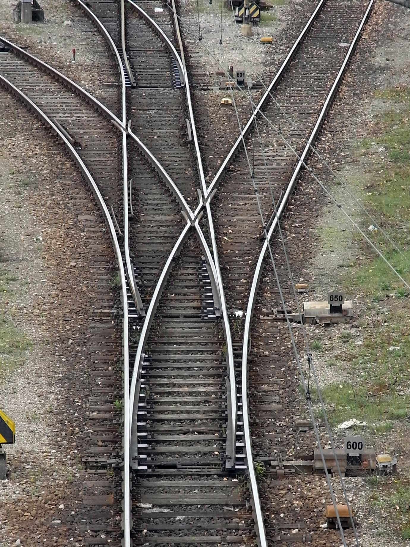
[[[172,6],[170,6],[169,4],[167,4],[168,8],[171,10],[171,11],[174,11],[172,9]],[[184,19],[180,17],[180,15],[176,14],[175,15],[178,17],[178,19],[183,22]],[[185,32],[188,33],[188,34],[191,34],[192,36],[192,32],[189,31],[189,30],[186,30],[185,28]],[[206,45],[203,44],[203,40],[201,42],[203,48],[207,51],[208,55],[210,55],[214,61],[216,61],[216,63],[218,64],[218,66],[222,69],[222,71],[224,72],[224,74],[226,75],[227,78],[229,78],[229,74],[227,73],[227,71],[225,70],[225,68],[221,65],[221,63],[218,61],[218,59],[216,59],[216,57],[209,51],[209,49],[206,47]],[[247,94],[238,86],[238,84],[236,82],[233,82],[233,85],[238,89],[238,91],[241,92],[241,94],[243,94],[247,100],[249,100]],[[330,198],[330,200],[335,203],[335,205],[343,212],[344,216],[347,217],[347,219],[350,221],[351,224],[353,224],[353,226],[356,228],[356,230],[358,230],[358,232],[361,234],[361,236],[367,241],[367,243],[374,249],[374,251],[376,251],[376,253],[379,255],[380,258],[383,259],[383,261],[389,266],[389,268],[391,269],[391,271],[393,271],[393,273],[400,279],[400,281],[402,281],[402,283],[410,290],[410,285],[402,278],[402,276],[399,274],[399,272],[397,272],[397,270],[394,268],[394,266],[392,266],[390,264],[390,262],[384,257],[383,253],[379,251],[379,249],[373,244],[373,242],[366,236],[366,234],[364,233],[364,231],[361,230],[361,228],[358,226],[358,224],[356,224],[356,222],[354,222],[353,218],[349,216],[349,214],[344,210],[344,208],[342,207],[342,204],[341,203],[338,203],[336,198],[330,193],[329,190],[327,190],[327,188],[325,187],[325,185],[318,179],[318,177],[314,174],[313,170],[311,167],[308,167],[306,165],[306,163],[301,160],[301,157],[300,155],[296,152],[296,150],[291,146],[291,144],[286,140],[286,138],[282,135],[282,132],[280,130],[278,130],[278,128],[276,126],[273,125],[273,123],[271,122],[271,120],[269,120],[265,114],[263,114],[263,112],[257,108],[257,105],[251,100],[250,101],[252,106],[254,107],[255,109],[255,112],[259,112],[261,117],[263,119],[266,120],[267,124],[270,125],[279,135],[279,137],[283,140],[283,142],[286,144],[286,146],[291,150],[291,152],[296,156],[296,158],[298,160],[301,161],[301,164],[303,165],[303,167],[305,167],[309,173],[311,173],[311,176],[314,178],[314,180],[319,184],[319,186],[324,190],[325,194]]]

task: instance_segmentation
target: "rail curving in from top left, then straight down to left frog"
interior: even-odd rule
[[[118,120],[118,123],[120,125],[120,128],[122,130],[122,174],[124,177],[124,248],[125,248],[125,263],[127,266],[127,277],[128,277],[128,284],[131,289],[132,298],[134,300],[134,304],[136,305],[136,309],[138,312],[138,315],[141,315],[142,309],[140,307],[140,295],[138,292],[138,289],[136,287],[136,284],[134,283],[134,271],[131,264],[131,258],[130,258],[130,247],[128,245],[129,241],[129,234],[130,234],[130,226],[128,222],[128,162],[127,162],[127,143],[126,143],[126,119],[127,119],[127,112],[126,112],[126,98],[125,98],[125,76],[124,71],[122,69],[122,61],[120,53],[114,43],[114,40],[110,36],[109,32],[107,31],[106,27],[102,24],[102,22],[98,19],[98,17],[93,13],[91,9],[89,9],[85,3],[82,0],[75,0],[89,15],[89,17],[95,22],[95,24],[98,26],[98,28],[101,30],[103,35],[107,38],[110,48],[112,49],[116,60],[118,62],[118,69],[120,71],[121,75],[121,117],[122,117],[122,123]],[[122,16],[124,15],[124,5],[123,2],[121,3],[121,12]],[[121,27],[122,28],[122,27]],[[122,31],[121,31],[122,36]],[[126,59],[126,53],[125,49],[123,48],[124,59]],[[131,74],[132,76],[132,74]],[[135,82],[134,82],[135,84]],[[115,120],[114,120],[115,121]]]

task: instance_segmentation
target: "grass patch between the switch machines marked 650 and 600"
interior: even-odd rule
[[[350,333],[349,333],[350,334]],[[335,356],[351,371],[350,382],[322,389],[332,426],[356,418],[385,433],[410,412],[410,320],[408,305],[380,313],[362,344],[346,340]],[[343,333],[341,334],[343,336]],[[312,392],[312,397],[314,392]]]

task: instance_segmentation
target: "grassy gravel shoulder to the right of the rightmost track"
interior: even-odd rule
[[[409,10],[376,5],[318,146],[336,176],[323,161],[313,161],[319,179],[407,282],[408,141],[401,135],[407,135],[409,65],[402,47],[409,33]],[[330,328],[309,327],[313,360],[337,446],[345,434],[360,434],[376,453],[397,457],[394,477],[344,481],[362,545],[403,547],[410,537],[408,290],[349,219],[320,196],[318,191],[325,205],[311,230],[313,254],[300,276],[309,284],[304,299],[326,300],[329,290],[340,288],[353,300],[354,318]],[[394,237],[403,256],[380,228],[369,229],[375,223]],[[319,409],[318,417],[327,443]],[[336,429],[350,418],[366,425]],[[342,501],[339,482],[333,484]]]

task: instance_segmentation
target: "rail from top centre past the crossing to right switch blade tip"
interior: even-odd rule
[[[130,1],[130,0],[128,0]],[[229,468],[235,467],[235,455],[236,455],[236,422],[237,422],[237,409],[238,409],[238,399],[236,393],[236,377],[235,377],[235,362],[233,360],[233,347],[232,347],[232,336],[231,336],[231,327],[229,324],[228,312],[226,309],[225,293],[224,293],[224,284],[222,282],[221,269],[219,266],[219,257],[218,257],[218,247],[216,245],[214,223],[212,219],[212,212],[209,205],[209,193],[212,193],[212,190],[208,191],[207,184],[205,181],[205,176],[203,173],[201,151],[198,143],[198,137],[195,127],[195,117],[194,109],[192,108],[191,102],[191,91],[189,88],[188,72],[186,71],[184,48],[182,44],[181,34],[179,30],[177,8],[175,7],[175,0],[172,0],[172,11],[174,15],[174,26],[175,33],[177,34],[177,39],[179,43],[179,49],[181,52],[181,62],[184,67],[185,74],[185,91],[186,91],[186,101],[188,102],[189,117],[191,121],[191,131],[192,136],[194,137],[195,153],[198,164],[198,171],[200,173],[201,187],[204,198],[204,204],[207,210],[207,220],[209,235],[212,242],[212,252],[214,255],[215,269],[216,269],[216,283],[219,287],[219,297],[220,305],[223,318],[224,334],[227,348],[227,390],[230,391],[228,395],[228,401],[230,401],[230,411],[231,414],[228,414],[227,420],[227,431],[226,431],[226,465]]]

